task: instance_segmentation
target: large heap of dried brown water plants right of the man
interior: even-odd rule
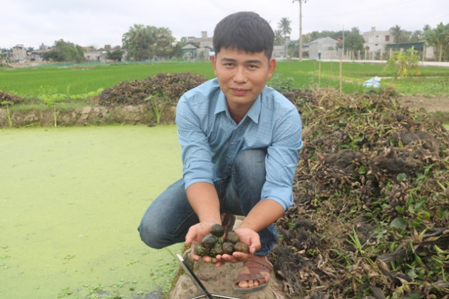
[[[294,90],[304,147],[269,256],[290,298],[449,298],[449,135],[392,90]]]

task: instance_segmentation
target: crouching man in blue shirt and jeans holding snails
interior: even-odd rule
[[[267,21],[251,12],[231,14],[217,24],[213,43],[217,78],[182,95],[177,105],[183,178],[153,201],[139,231],[153,248],[182,241],[194,246],[222,218],[229,229],[229,214],[244,216],[234,231],[249,253],[216,259],[217,266],[244,262],[234,290],[248,293],[267,285],[274,221],[293,204],[301,119],[287,98],[266,86],[276,68]]]

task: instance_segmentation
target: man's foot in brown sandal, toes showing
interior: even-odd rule
[[[265,288],[273,265],[266,256],[253,256],[243,262],[243,270],[234,283],[234,292],[250,293]]]

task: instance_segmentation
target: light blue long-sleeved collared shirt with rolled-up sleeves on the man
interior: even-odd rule
[[[239,151],[266,149],[267,177],[261,199],[277,201],[284,210],[293,204],[301,118],[281,93],[266,86],[237,125],[217,79],[212,79],[182,95],[176,124],[186,189],[196,182],[212,184],[230,177]]]

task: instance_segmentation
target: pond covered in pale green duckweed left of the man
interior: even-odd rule
[[[170,288],[179,264],[137,227],[182,175],[175,125],[1,129],[0,154],[0,298],[160,298]]]

